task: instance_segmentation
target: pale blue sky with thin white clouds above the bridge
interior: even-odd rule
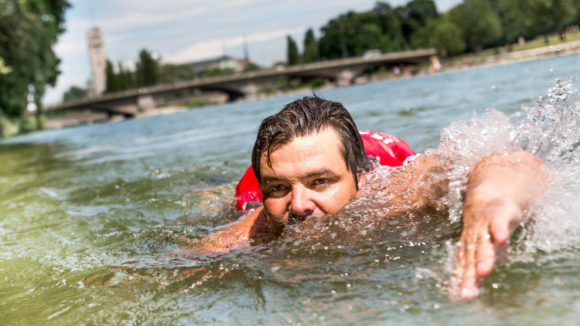
[[[244,57],[244,35],[251,61],[268,67],[286,57],[286,36],[302,45],[308,28],[320,27],[340,13],[371,9],[376,0],[71,0],[66,31],[54,46],[61,74],[45,94],[59,102],[71,86],[86,87],[90,63],[86,32],[103,32],[107,58],[132,65],[143,48],[164,63],[187,63],[227,54]],[[386,0],[393,6],[408,0]],[[435,0],[445,12],[461,0]]]

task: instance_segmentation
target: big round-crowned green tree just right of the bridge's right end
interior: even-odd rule
[[[498,13],[489,0],[465,0],[449,10],[449,19],[463,32],[470,50],[494,45],[502,37]]]

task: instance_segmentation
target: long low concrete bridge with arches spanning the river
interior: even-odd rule
[[[429,61],[436,54],[435,49],[422,49],[404,52],[391,52],[374,57],[353,57],[317,63],[292,65],[280,69],[264,69],[230,76],[200,78],[186,82],[167,85],[142,87],[135,90],[103,94],[99,97],[82,98],[81,100],[61,102],[46,107],[46,112],[67,109],[90,109],[105,112],[109,116],[123,115],[133,117],[140,112],[155,107],[157,102],[179,91],[224,91],[230,100],[258,93],[275,84],[277,78],[289,77],[324,77],[338,83],[349,85],[351,80],[374,65],[416,64]]]

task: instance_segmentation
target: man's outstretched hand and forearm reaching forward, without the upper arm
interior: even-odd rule
[[[463,203],[463,232],[452,282],[452,299],[472,299],[479,283],[508,247],[530,199],[546,188],[538,157],[527,152],[490,155],[473,169]]]

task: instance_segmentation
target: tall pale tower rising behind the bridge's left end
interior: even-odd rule
[[[96,97],[103,94],[107,89],[107,75],[105,74],[107,56],[105,54],[103,36],[99,27],[91,28],[88,32],[88,38],[92,78],[89,79],[87,95],[89,97]]]

